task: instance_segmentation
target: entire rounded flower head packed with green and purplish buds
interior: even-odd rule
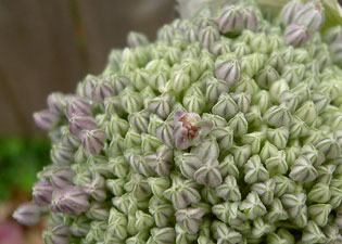
[[[341,26],[214,2],[48,98],[52,165],[15,219],[49,214],[49,244],[342,243]]]

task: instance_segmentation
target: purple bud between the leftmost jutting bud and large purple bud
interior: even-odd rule
[[[33,187],[33,196],[35,203],[40,207],[50,205],[53,190],[54,189],[49,181],[37,181]]]

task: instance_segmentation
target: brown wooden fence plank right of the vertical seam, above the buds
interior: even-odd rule
[[[126,46],[130,30],[154,39],[156,29],[175,16],[174,0],[77,0],[87,40],[90,72],[103,69],[109,51]]]

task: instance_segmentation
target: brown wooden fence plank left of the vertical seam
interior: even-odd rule
[[[1,0],[0,10],[0,69],[29,133],[37,131],[31,114],[46,107],[47,95],[71,91],[80,77],[68,0]]]

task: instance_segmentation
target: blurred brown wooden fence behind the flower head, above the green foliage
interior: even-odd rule
[[[129,30],[154,39],[174,0],[0,0],[0,134],[35,134],[51,91],[102,70]]]

